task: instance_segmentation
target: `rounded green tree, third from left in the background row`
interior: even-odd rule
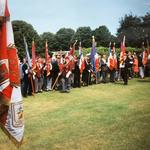
[[[71,45],[74,34],[75,31],[71,28],[61,28],[56,33],[56,50],[68,50]]]

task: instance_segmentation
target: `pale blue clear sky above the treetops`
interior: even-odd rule
[[[115,35],[125,14],[143,16],[150,0],[8,0],[12,20],[24,20],[42,34],[60,28],[106,25]]]

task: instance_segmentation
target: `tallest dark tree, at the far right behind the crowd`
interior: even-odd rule
[[[126,45],[132,47],[141,47],[141,43],[150,39],[150,13],[144,17],[125,15],[120,21],[117,39],[120,43],[123,36],[126,36]]]

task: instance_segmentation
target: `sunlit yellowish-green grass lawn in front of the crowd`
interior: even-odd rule
[[[24,99],[21,150],[150,150],[150,78]],[[16,150],[0,129],[0,150]]]

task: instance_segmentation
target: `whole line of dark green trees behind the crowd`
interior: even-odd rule
[[[41,35],[34,30],[33,26],[24,21],[13,21],[15,43],[18,47],[19,56],[25,56],[23,35],[27,39],[29,50],[31,52],[32,40],[36,43],[36,53],[44,55],[45,41],[48,41],[49,53],[52,51],[68,51],[75,40],[82,42],[83,48],[90,48],[92,45],[92,36],[95,36],[97,47],[105,47],[98,51],[99,53],[107,52],[109,42],[115,42],[116,47],[120,47],[123,36],[126,36],[126,46],[139,48],[143,41],[150,41],[150,13],[143,17],[132,14],[125,15],[120,20],[120,26],[117,35],[111,35],[109,29],[103,25],[92,30],[90,27],[79,27],[76,31],[71,28],[61,28],[56,34],[45,32]],[[145,47],[147,42],[145,42]],[[77,47],[78,49],[78,43]],[[117,49],[119,51],[119,49]],[[131,48],[133,51],[133,48]]]

